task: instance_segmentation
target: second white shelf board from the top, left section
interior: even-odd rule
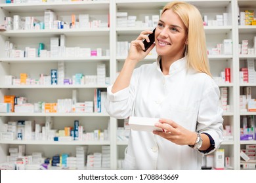
[[[61,34],[67,37],[91,37],[109,36],[110,28],[89,28],[89,29],[42,29],[42,30],[10,30],[1,31],[1,35],[7,37],[54,37]]]

